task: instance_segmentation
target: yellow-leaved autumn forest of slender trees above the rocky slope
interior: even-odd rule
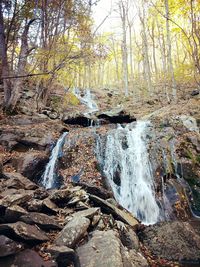
[[[4,107],[22,90],[46,104],[56,90],[113,89],[134,101],[166,102],[198,88],[198,0],[116,1],[95,25],[99,1],[1,1],[1,84]],[[98,31],[109,16],[118,26]]]

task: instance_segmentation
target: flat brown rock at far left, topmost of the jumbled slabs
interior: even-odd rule
[[[37,189],[38,186],[31,182],[29,179],[21,175],[20,173],[4,173],[4,177],[9,179],[6,182],[7,188],[16,188],[16,189],[27,189],[27,190],[34,190]]]

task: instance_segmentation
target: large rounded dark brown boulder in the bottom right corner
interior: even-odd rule
[[[141,234],[141,240],[157,257],[188,262],[200,258],[200,236],[187,222],[149,226]]]

